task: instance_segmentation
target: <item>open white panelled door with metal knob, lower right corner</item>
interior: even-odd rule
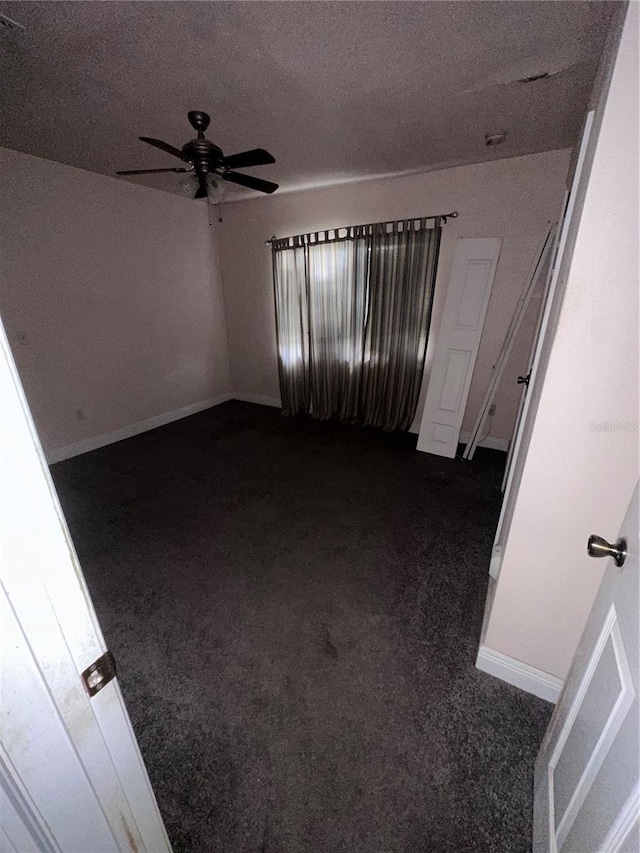
[[[627,557],[609,559],[538,755],[535,853],[640,850],[638,526],[636,487],[620,529]]]

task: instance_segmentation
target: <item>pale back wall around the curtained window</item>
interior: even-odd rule
[[[440,172],[275,194],[223,206],[220,251],[234,390],[278,397],[271,253],[264,241],[339,225],[458,210],[444,228],[433,329],[437,329],[458,237],[502,237],[485,332],[463,429],[470,429],[525,285],[548,220],[559,215],[570,151],[461,166]],[[532,312],[533,313],[533,312]],[[496,398],[491,434],[510,438],[519,386],[527,369],[533,316],[506,370]],[[431,344],[435,340],[432,335]],[[427,364],[427,372],[429,369]],[[418,404],[420,422],[426,382]]]

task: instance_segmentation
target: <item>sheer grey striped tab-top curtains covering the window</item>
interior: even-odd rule
[[[422,219],[272,242],[283,414],[409,429],[441,230]]]

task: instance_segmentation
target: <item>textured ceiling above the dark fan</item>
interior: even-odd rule
[[[271,151],[245,171],[285,190],[563,148],[614,5],[0,2],[26,28],[0,32],[0,145],[107,175],[179,166],[137,137],[181,147],[200,109],[225,154]]]

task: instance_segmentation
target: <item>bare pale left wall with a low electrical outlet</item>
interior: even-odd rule
[[[204,204],[7,149],[0,198],[0,310],[45,450],[230,391]]]

